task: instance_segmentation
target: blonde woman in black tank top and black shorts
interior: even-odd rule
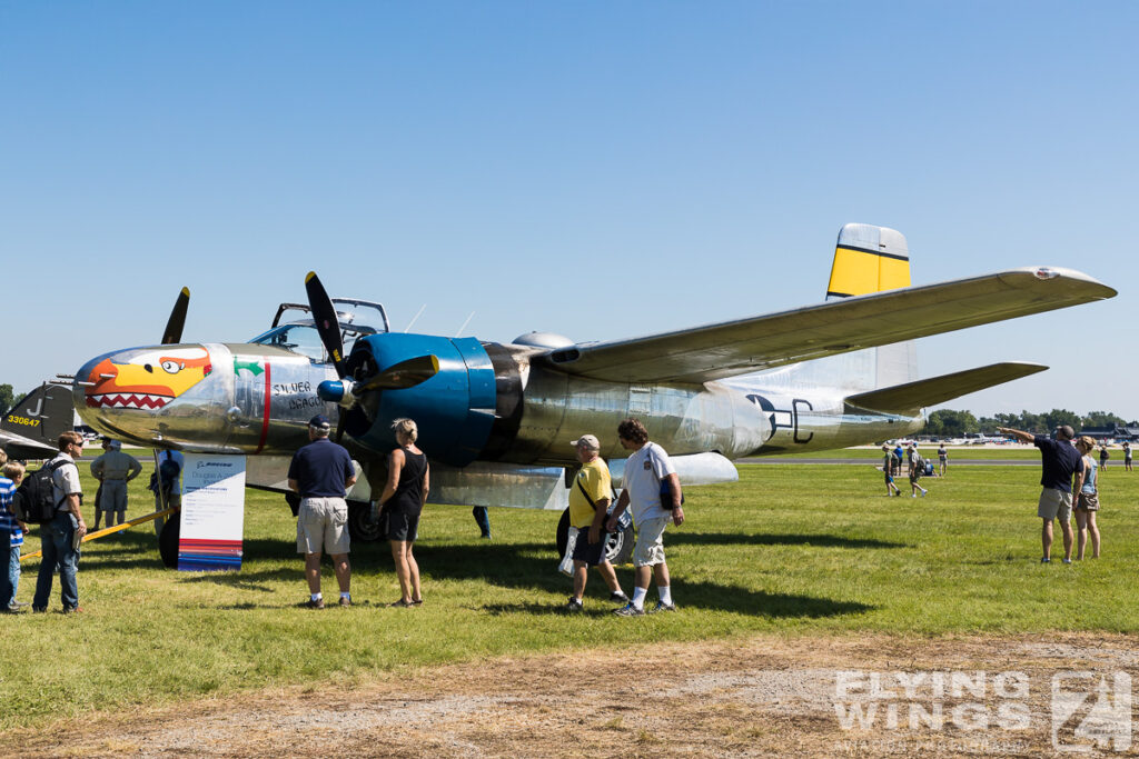
[[[419,564],[411,553],[419,529],[419,514],[427,501],[429,467],[427,456],[416,447],[419,430],[410,419],[392,424],[399,448],[387,459],[387,485],[379,496],[382,519],[392,544],[395,575],[400,578],[400,600],[393,607],[418,607],[424,602],[419,589]]]

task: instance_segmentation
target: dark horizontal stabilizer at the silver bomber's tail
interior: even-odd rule
[[[1007,361],[962,372],[942,374],[929,379],[884,387],[846,397],[846,403],[859,409],[883,413],[912,415],[919,409],[945,403],[986,387],[1010,382],[1022,377],[1042,372],[1048,366],[1019,361]]]

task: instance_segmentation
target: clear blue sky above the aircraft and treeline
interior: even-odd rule
[[[851,221],[915,283],[1114,300],[931,338],[949,404],[1139,418],[1131,2],[0,2],[0,382],[240,341],[317,270],[402,330],[575,340],[822,299]],[[19,345],[13,337],[24,338]]]

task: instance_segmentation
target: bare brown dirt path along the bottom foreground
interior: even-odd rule
[[[1120,756],[1139,745],[1129,677],[1139,685],[1139,640],[1126,636],[762,636],[502,658],[85,717],[0,735],[0,753],[1040,757],[1056,753],[1055,724],[1055,745]],[[859,716],[872,721],[860,727]]]

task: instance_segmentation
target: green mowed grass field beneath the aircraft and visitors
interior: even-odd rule
[[[148,467],[149,469],[149,467]],[[87,467],[83,467],[87,470]],[[295,608],[306,599],[295,521],[279,495],[247,492],[240,572],[162,568],[149,526],[84,547],[84,613],[0,616],[0,729],[57,717],[162,704],[244,688],[353,682],[401,668],[752,633],[785,635],[1139,632],[1139,476],[1103,480],[1104,558],[1039,563],[1039,472],[958,467],[928,479],[926,498],[887,498],[871,465],[743,465],[741,481],[691,488],[688,521],[665,536],[680,613],[620,619],[590,577],[587,613],[558,612],[558,515],[491,510],[478,539],[470,510],[429,506],[416,546],[426,603],[399,597],[386,545],[352,552],[357,607]],[[131,515],[146,513],[132,489]],[[84,477],[84,487],[93,492]],[[90,505],[87,506],[90,519]],[[35,534],[28,551],[39,547]],[[24,564],[30,601],[38,560]],[[618,569],[626,591],[631,569]],[[326,597],[335,600],[330,568]],[[656,594],[650,592],[650,602]]]

